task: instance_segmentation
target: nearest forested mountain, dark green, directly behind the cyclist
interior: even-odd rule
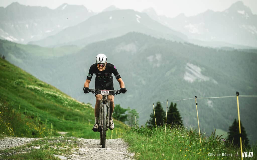
[[[95,103],[94,95],[84,94],[83,84],[89,67],[95,63],[95,56],[105,53],[128,89],[126,94],[115,96],[115,103],[124,108],[130,106],[137,109],[141,113],[141,124],[149,119],[152,103],[157,101],[194,98],[195,95],[198,98],[234,95],[236,91],[240,95],[257,94],[254,74],[257,54],[251,51],[218,50],[128,33],[95,42],[76,54],[59,58],[39,59],[31,54],[18,57],[26,52],[20,48],[12,51],[5,48],[4,52],[8,53],[6,59],[17,66],[26,68],[26,71],[72,97],[92,104]],[[28,56],[30,59],[26,58]],[[94,79],[90,88],[94,88]],[[119,88],[116,80],[114,88]],[[213,127],[227,131],[237,118],[235,98],[199,99],[197,102],[200,129],[208,133]],[[195,100],[176,103],[184,124],[196,127]],[[247,135],[254,142],[257,140],[254,134],[257,128],[255,106],[255,99],[240,98],[241,120]]]

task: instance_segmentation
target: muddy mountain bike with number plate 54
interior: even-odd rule
[[[120,90],[97,90],[97,89],[89,89],[91,93],[101,93],[103,95],[103,99],[100,100],[100,112],[99,112],[99,126],[98,132],[100,132],[100,144],[102,148],[105,148],[105,140],[106,140],[106,131],[109,128],[110,123],[110,101],[107,99],[107,95],[110,94],[120,94],[122,93]]]

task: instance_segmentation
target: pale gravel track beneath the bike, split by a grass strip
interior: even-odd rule
[[[74,137],[75,138],[75,137]],[[17,137],[6,137],[0,139],[0,150],[11,148],[15,146],[24,145],[40,138],[17,138]],[[62,156],[64,159],[73,160],[132,160],[133,153],[130,153],[128,145],[121,139],[106,140],[106,148],[102,148],[100,140],[95,139],[77,139],[77,148],[72,149],[69,155]]]

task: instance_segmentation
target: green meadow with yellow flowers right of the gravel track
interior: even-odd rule
[[[213,132],[207,136],[201,133],[201,143],[198,130],[185,127],[167,126],[150,129],[128,129],[123,138],[129,144],[129,150],[135,152],[135,159],[140,160],[175,160],[175,159],[241,159],[240,147],[227,144],[220,135]],[[245,148],[243,152],[253,152],[256,159],[257,147]],[[221,154],[214,156],[212,154]],[[223,154],[232,154],[222,156]],[[254,155],[255,154],[255,155]]]

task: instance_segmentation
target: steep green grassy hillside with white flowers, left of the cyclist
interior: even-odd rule
[[[92,131],[94,109],[90,104],[69,97],[2,58],[0,75],[0,136],[44,137],[62,131],[68,136],[99,138],[99,133]],[[121,137],[125,125],[114,123],[113,138]]]

